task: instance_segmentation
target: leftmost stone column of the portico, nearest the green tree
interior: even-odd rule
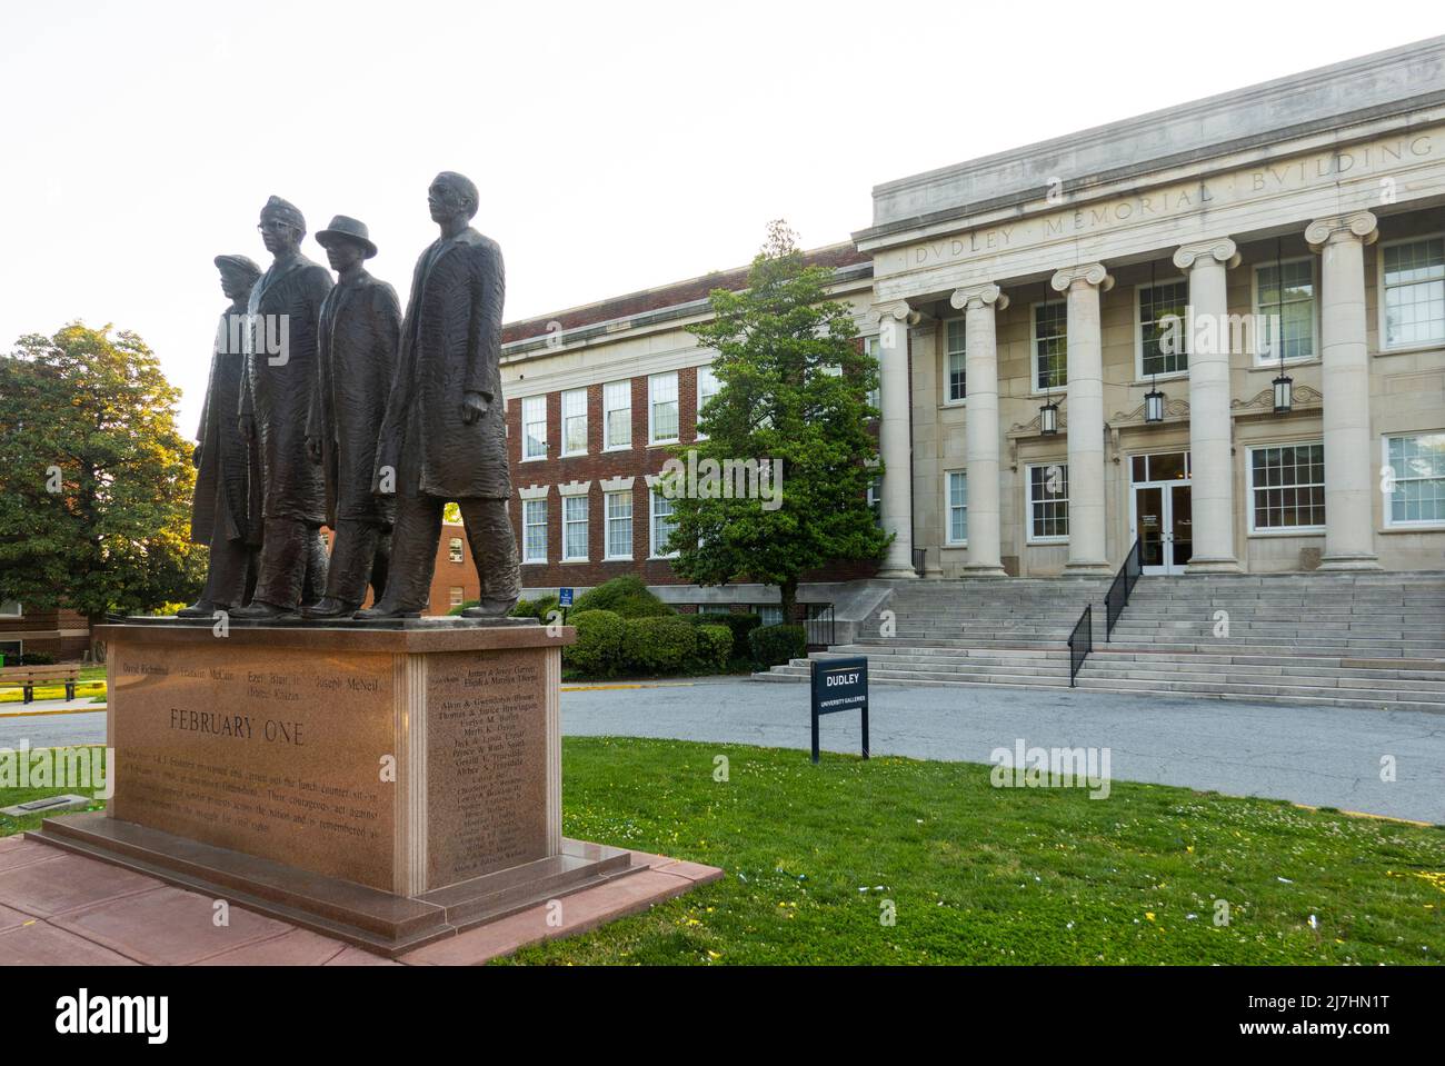
[[[906,300],[874,306],[879,319],[879,452],[883,455],[883,529],[893,543],[880,578],[916,578],[913,571],[913,442],[909,433],[907,328],[919,315]]]

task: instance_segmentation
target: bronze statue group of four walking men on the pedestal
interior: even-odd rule
[[[462,614],[497,620],[516,605],[501,250],[471,227],[478,192],[462,175],[436,175],[428,205],[441,235],[416,263],[405,318],[364,267],[377,251],[367,227],[345,215],[316,234],[335,283],[301,254],[305,218],[279,196],[262,209],[264,273],[244,256],[217,257],[231,306],[212,352],[191,524],[211,565],[181,615],[418,615],[449,501],[481,582]],[[368,584],[374,605],[361,611]]]

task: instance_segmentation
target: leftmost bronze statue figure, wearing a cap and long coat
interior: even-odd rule
[[[260,545],[260,469],[237,425],[244,370],[246,306],[262,269],[246,256],[217,256],[221,292],[231,306],[221,312],[211,351],[211,376],[195,448],[195,498],[191,540],[210,545],[211,560],[201,598],[178,614],[211,618],[246,602],[256,582]]]

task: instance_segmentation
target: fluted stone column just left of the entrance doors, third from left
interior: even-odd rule
[[[1069,562],[1068,573],[1104,573],[1104,342],[1098,296],[1114,287],[1103,263],[1053,274],[1068,293]]]

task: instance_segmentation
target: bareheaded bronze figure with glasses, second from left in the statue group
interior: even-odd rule
[[[247,607],[231,612],[251,620],[293,614],[303,591],[319,594],[327,566],[319,536],[327,520],[325,485],[306,455],[306,415],[331,274],[301,254],[306,220],[295,205],[272,196],[259,228],[275,260],[247,305],[240,423],[260,454],[263,536],[256,592]]]

